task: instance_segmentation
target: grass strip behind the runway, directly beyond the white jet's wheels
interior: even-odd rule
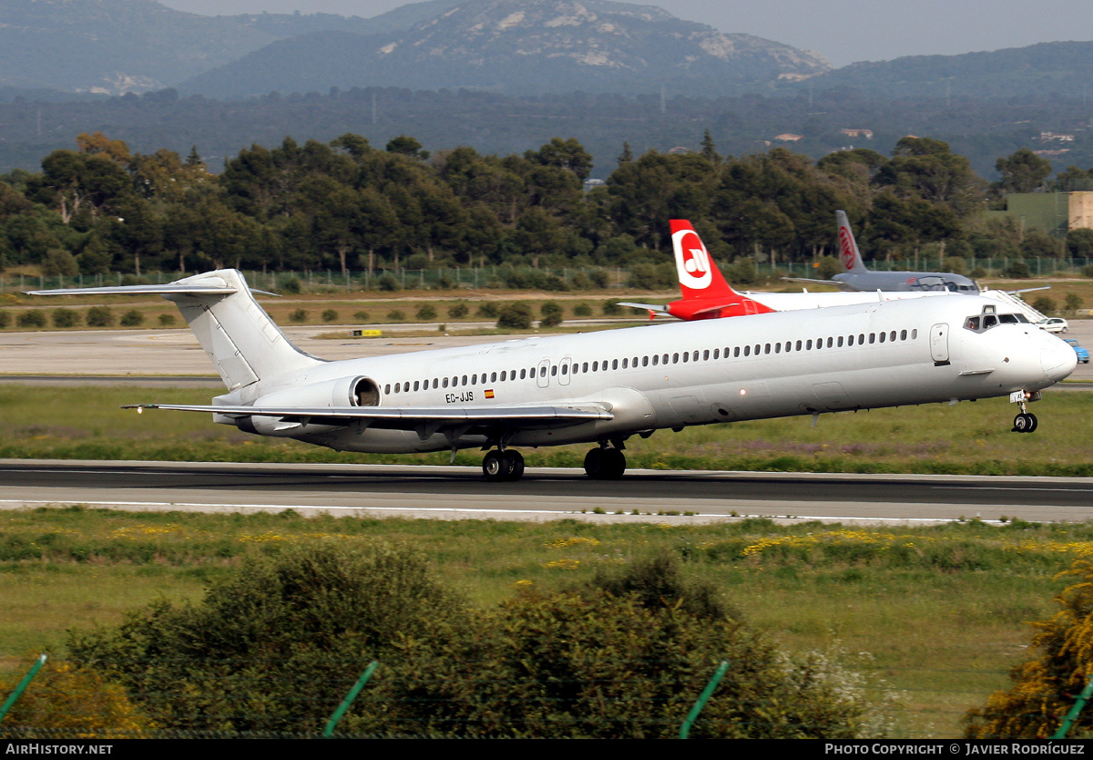
[[[337,453],[248,435],[207,414],[122,410],[122,404],[208,404],[200,389],[0,386],[0,457],[189,461],[447,464],[448,454]],[[1015,407],[987,399],[659,431],[632,439],[632,468],[810,472],[1093,476],[1093,394],[1048,391],[1039,429],[1010,432]],[[536,466],[580,467],[587,446],[529,449]],[[457,463],[477,466],[478,452]]]

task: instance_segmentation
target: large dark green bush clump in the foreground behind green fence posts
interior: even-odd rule
[[[857,676],[785,656],[673,557],[475,613],[413,551],[318,542],[70,648],[167,729],[315,734],[377,659],[339,734],[668,738],[727,659],[692,736],[877,736]]]

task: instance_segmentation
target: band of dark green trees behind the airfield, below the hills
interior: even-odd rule
[[[0,264],[66,276],[651,266],[666,262],[669,220],[684,218],[720,260],[740,260],[733,277],[747,282],[749,261],[830,253],[837,209],[867,258],[940,253],[963,266],[955,257],[1067,250],[1016,224],[979,221],[991,192],[1046,182],[1049,164],[1029,151],[999,164],[994,187],[928,138],[901,140],[892,157],[858,149],[819,162],[786,149],[722,156],[708,135],[695,153],[637,155],[624,145],[607,183],[586,191],[590,166],[574,139],[496,156],[431,154],[404,136],[378,148],[346,133],[251,145],[214,175],[196,151],[140,154],[81,135],[74,150],[45,156],[40,172],[0,177]],[[1076,255],[1090,255],[1086,237],[1071,233]]]

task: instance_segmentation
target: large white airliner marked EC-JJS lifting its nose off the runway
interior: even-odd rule
[[[515,446],[596,443],[591,478],[622,476],[624,441],[656,430],[796,414],[1010,396],[1026,402],[1069,375],[1077,354],[979,296],[890,301],[648,325],[583,335],[328,362],[299,351],[243,276],[166,285],[37,291],[130,293],[175,302],[228,393],[211,412],[260,435],[338,451],[481,447],[490,480],[515,480]]]

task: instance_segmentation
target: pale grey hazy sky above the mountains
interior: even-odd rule
[[[203,15],[338,13],[371,17],[404,0],[160,0]],[[1093,39],[1089,0],[662,0],[680,19],[815,50],[835,66]]]

